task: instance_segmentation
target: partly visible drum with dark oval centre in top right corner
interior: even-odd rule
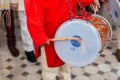
[[[120,0],[109,0],[113,21],[120,27]]]

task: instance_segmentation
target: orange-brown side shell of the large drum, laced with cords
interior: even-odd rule
[[[112,38],[111,25],[104,17],[100,15],[92,15],[90,22],[100,34],[103,49]]]

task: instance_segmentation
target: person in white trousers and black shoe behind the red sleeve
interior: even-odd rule
[[[31,36],[27,29],[26,23],[26,13],[24,9],[24,0],[12,0],[11,8],[14,11],[18,11],[18,20],[20,23],[21,37],[23,41],[23,47],[25,50],[25,54],[27,56],[27,60],[30,62],[35,62],[36,58],[34,55],[34,46],[31,39]]]

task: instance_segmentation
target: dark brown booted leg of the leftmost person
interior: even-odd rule
[[[3,10],[2,15],[4,17],[5,27],[7,31],[7,45],[11,52],[11,54],[14,57],[19,56],[19,51],[15,47],[16,46],[16,40],[15,40],[15,34],[14,34],[14,16],[12,10]]]

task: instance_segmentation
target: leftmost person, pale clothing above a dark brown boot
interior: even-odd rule
[[[11,0],[0,0],[0,16],[4,18],[8,48],[12,56],[18,57],[19,51],[16,48],[16,39],[14,34],[14,15],[10,8],[10,3],[12,3]]]

